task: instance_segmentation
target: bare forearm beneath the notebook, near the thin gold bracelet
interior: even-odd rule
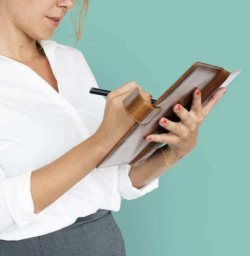
[[[178,157],[169,151],[167,145],[163,147],[167,162],[170,166],[175,165],[183,157]],[[150,157],[138,166],[132,166],[129,171],[129,178],[132,185],[139,189],[152,180],[163,175],[170,167],[166,164],[161,148],[158,148]]]

